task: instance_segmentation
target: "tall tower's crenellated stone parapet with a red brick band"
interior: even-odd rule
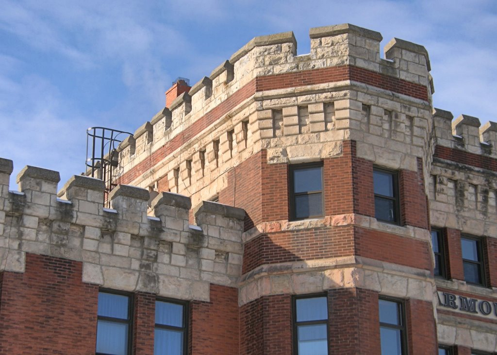
[[[299,56],[293,32],[253,38],[120,144],[115,182],[183,193],[196,206],[261,150],[268,163],[292,163],[340,155],[347,139],[362,158],[417,170],[431,130],[424,47],[394,38],[383,59],[381,34],[351,24],[310,37]]]

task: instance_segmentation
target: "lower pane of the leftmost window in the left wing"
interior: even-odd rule
[[[99,320],[96,332],[96,352],[126,355],[128,346],[128,324]]]

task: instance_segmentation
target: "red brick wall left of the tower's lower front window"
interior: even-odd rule
[[[240,307],[240,354],[292,354],[291,310],[288,294],[262,296]]]

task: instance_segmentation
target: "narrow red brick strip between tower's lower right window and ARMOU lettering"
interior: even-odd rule
[[[436,354],[438,349],[433,304],[418,299],[406,302],[409,354]]]

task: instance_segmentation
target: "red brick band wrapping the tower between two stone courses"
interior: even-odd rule
[[[340,226],[261,234],[245,244],[242,272],[264,264],[351,255],[433,269],[427,242],[372,229]]]

